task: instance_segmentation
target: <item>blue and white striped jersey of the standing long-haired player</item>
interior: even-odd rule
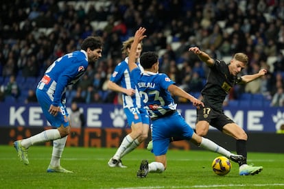
[[[137,63],[140,70],[143,71],[143,68]],[[134,82],[130,79],[130,71],[128,68],[128,58],[117,64],[115,67],[115,71],[110,77],[110,81],[113,81],[115,84],[123,88],[133,88],[135,89],[135,95],[132,97],[122,93],[122,101],[123,101],[123,108],[130,108],[130,107],[137,107],[141,108],[141,98],[139,96],[139,92],[135,87]]]

